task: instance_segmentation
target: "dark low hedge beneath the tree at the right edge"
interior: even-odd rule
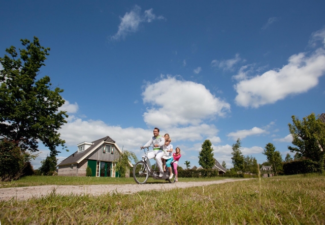
[[[283,171],[285,175],[300,174],[300,173],[314,173],[320,172],[319,163],[310,159],[303,159],[299,161],[290,161],[283,163]]]

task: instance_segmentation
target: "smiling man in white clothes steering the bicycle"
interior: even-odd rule
[[[163,157],[163,147],[165,145],[165,138],[159,135],[159,129],[155,127],[153,129],[153,137],[149,140],[147,144],[141,146],[141,149],[147,148],[150,145],[154,146],[153,151],[148,152],[148,159],[153,159],[156,157],[156,162],[159,168],[159,177],[162,177],[164,174],[163,163],[161,162],[161,157]],[[145,156],[142,156],[144,158]]]

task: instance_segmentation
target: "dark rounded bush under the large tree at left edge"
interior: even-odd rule
[[[23,175],[24,167],[31,159],[28,153],[21,152],[16,142],[7,139],[0,140],[0,179],[10,181]],[[27,168],[26,168],[27,170]]]

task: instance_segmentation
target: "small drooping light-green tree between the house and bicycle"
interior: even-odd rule
[[[118,171],[120,176],[125,177],[126,171],[129,171],[132,168],[132,161],[134,163],[138,162],[138,158],[134,152],[129,152],[123,150],[119,157],[115,159],[115,171]]]

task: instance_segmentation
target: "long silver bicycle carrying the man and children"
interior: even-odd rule
[[[156,169],[157,163],[155,163],[155,166],[152,169],[150,160],[148,159],[148,152],[149,152],[149,147],[144,148],[145,155],[142,157],[142,160],[137,162],[133,166],[133,178],[135,182],[137,182],[140,185],[143,185],[147,182],[149,176],[152,176],[153,179],[165,179],[169,183],[175,183],[175,178],[174,181],[172,181],[172,179],[169,178],[170,176],[169,171],[164,172],[163,176],[159,177],[159,169]],[[173,167],[172,167],[172,173],[174,173]]]

